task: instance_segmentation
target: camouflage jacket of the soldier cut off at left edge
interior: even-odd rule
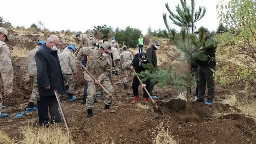
[[[0,85],[4,92],[12,93],[13,68],[10,58],[10,49],[7,44],[0,40]],[[0,95],[0,98],[2,96]]]

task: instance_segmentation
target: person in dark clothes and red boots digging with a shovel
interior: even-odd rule
[[[152,64],[152,62],[148,59],[147,54],[145,52],[142,53],[137,53],[133,60],[132,60],[132,66],[131,69],[135,69],[136,73],[141,73],[141,71],[145,71],[146,69],[142,66],[142,64]],[[146,87],[146,89],[149,89],[149,85],[150,85],[150,79],[147,79],[143,82],[143,85],[141,86],[143,88],[143,102],[147,102],[148,101],[148,94],[146,93],[146,91],[144,90],[144,87]],[[140,101],[140,96],[138,96],[138,86],[140,86],[140,81],[138,80],[137,76],[133,77],[133,81],[132,81],[132,92],[133,92],[133,96],[134,96],[134,100],[131,101],[131,104],[135,104],[136,102]]]

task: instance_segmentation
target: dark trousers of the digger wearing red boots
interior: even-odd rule
[[[146,89],[149,90],[150,80],[144,81],[143,84],[146,84]],[[138,86],[140,86],[140,81],[138,80],[137,77],[133,77],[133,81],[132,81],[133,96],[138,96]],[[144,89],[143,89],[143,97],[149,98],[148,94],[146,93],[146,91]]]

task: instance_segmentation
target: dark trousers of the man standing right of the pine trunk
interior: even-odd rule
[[[208,88],[208,102],[213,102],[214,99],[214,80],[213,80],[213,71],[215,66],[200,67],[197,68],[198,73],[198,82],[199,82],[199,91],[198,98],[204,100],[205,95],[205,85],[207,84]]]

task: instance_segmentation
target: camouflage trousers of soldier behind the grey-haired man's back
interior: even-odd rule
[[[37,102],[39,101],[39,93],[37,88],[37,76],[29,76],[30,80],[32,81],[32,93],[29,99],[29,102]]]

